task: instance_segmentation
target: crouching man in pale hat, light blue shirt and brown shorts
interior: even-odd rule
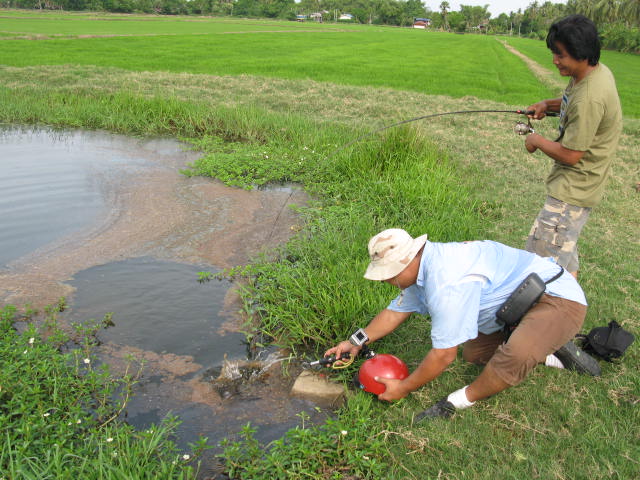
[[[414,239],[401,229],[379,233],[368,248],[371,263],[364,277],[397,286],[400,294],[325,355],[356,355],[413,312],[431,317],[431,350],[407,378],[376,378],[386,386],[380,400],[401,399],[436,378],[455,360],[459,345],[466,361],[486,366],[470,385],[425,410],[419,420],[449,417],[519,384],[538,364],[600,374],[598,363],[569,341],[582,327],[587,303],[575,278],[554,260],[492,241]],[[544,281],[557,278],[507,338],[496,311],[532,272]]]

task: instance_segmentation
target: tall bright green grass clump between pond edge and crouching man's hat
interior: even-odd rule
[[[279,262],[254,265],[247,296],[260,309],[261,330],[289,347],[343,338],[384,306],[390,291],[362,278],[365,246],[377,231],[477,236],[474,206],[446,156],[414,130],[395,130],[309,173],[304,183],[319,203],[305,211],[305,233]]]

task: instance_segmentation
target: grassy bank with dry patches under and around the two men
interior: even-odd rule
[[[451,36],[456,42],[467,37],[474,40]],[[456,75],[455,64],[447,68],[441,73],[449,90],[464,91],[468,77]],[[404,118],[522,106],[505,102],[498,91],[488,89],[491,96],[481,100],[395,86],[139,70],[2,66],[0,121],[187,137],[206,153],[194,174],[241,186],[303,183],[315,201],[302,209],[301,231],[277,261],[256,259],[249,267],[253,283],[245,297],[260,328],[298,353],[324,351],[394,294],[361,277],[366,240],[378,230],[402,226],[434,241],[490,238],[523,246],[543,202],[550,162],[526,153],[512,133],[515,116],[417,122],[336,153],[357,136]],[[548,119],[536,127],[551,137],[556,125]],[[581,283],[590,303],[585,331],[615,319],[640,333],[639,134],[640,122],[626,118],[607,195],[581,238]],[[375,348],[413,368],[428,338],[428,319],[415,316]],[[335,421],[290,432],[266,456],[246,429],[247,441],[227,445],[226,458],[235,476],[252,479],[634,478],[638,360],[634,345],[622,362],[603,364],[597,379],[540,368],[452,421],[413,425],[416,412],[478,374],[459,359],[401,402],[353,395]],[[332,375],[348,381],[354,371]]]

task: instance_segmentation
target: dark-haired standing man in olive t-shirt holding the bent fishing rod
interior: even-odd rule
[[[560,112],[560,135],[552,141],[532,133],[525,140],[530,153],[541,150],[555,161],[526,249],[553,257],[577,278],[578,237],[602,199],[622,131],[622,110],[613,74],[599,63],[600,40],[591,20],[570,15],[554,23],[547,47],[560,74],[571,80],[562,98],[528,107],[534,119]]]

